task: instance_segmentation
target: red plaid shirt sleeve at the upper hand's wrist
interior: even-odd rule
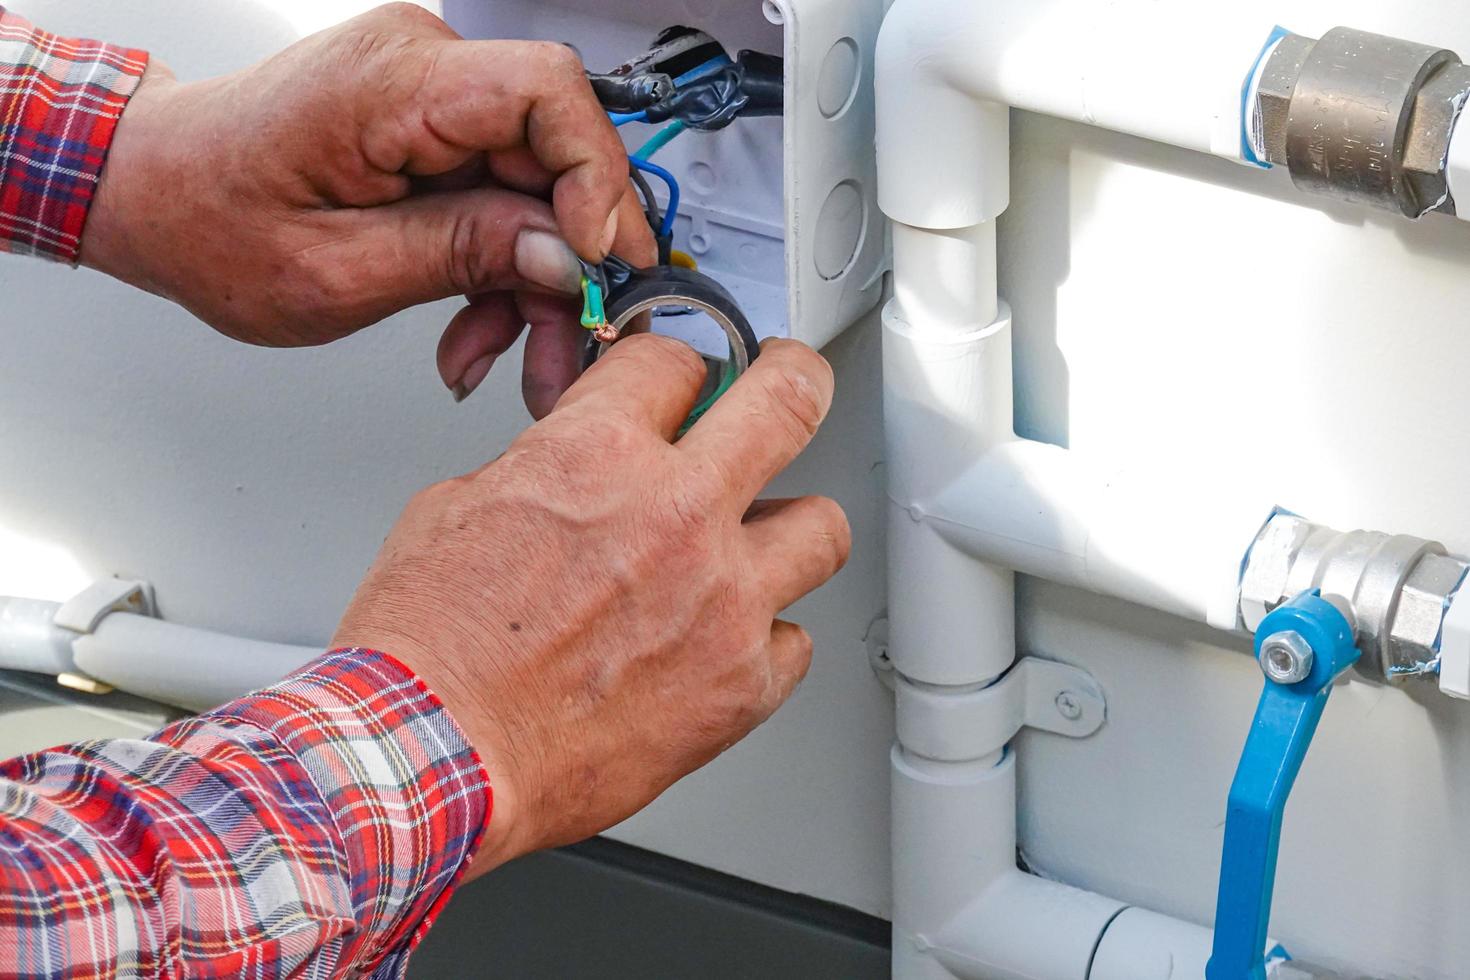
[[[0,250],[76,262],[147,51],[56,37],[0,6]]]

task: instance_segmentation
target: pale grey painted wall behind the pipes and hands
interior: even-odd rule
[[[25,10],[151,46],[194,76],[297,29],[256,0]],[[1307,34],[1341,22],[1470,54],[1449,0],[1273,12]],[[1470,226],[1322,204],[1283,173],[1025,116],[1013,172],[1003,289],[1028,435],[1113,458],[1167,453],[1201,482],[1269,478],[1314,519],[1470,554]],[[451,306],[281,353],[88,273],[0,262],[0,533],[60,548],[56,582],[146,574],[182,621],[320,641],[403,500],[525,422],[513,383],[457,407],[438,386]],[[876,351],[872,320],[832,345],[833,422],[778,486],[836,495],[857,530],[853,566],[797,610],[817,638],[810,680],[616,836],[883,914],[891,713],[861,642],[882,605]],[[0,574],[13,561],[0,555]],[[1032,652],[1083,664],[1108,692],[1092,739],[1023,739],[1026,858],[1207,920],[1260,686],[1245,644],[1042,583],[1023,588],[1020,616]],[[1467,814],[1470,707],[1344,686],[1288,815],[1273,932],[1372,976],[1464,977],[1470,933],[1452,923],[1470,914]]]

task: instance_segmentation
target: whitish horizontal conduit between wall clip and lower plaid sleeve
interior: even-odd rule
[[[279,680],[320,657],[291,646],[226,636],[132,613],[112,613],[72,642],[76,667],[143,698],[204,711]]]

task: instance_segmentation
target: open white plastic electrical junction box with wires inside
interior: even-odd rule
[[[757,335],[822,347],[872,310],[888,270],[876,203],[873,46],[882,0],[444,0],[469,38],[572,46],[604,72],[647,50],[663,28],[709,32],[731,57],[782,54],[781,119],[736,119],[685,132],[657,162],[684,201],[675,248],[719,279]],[[629,150],[657,126],[622,128]],[[659,182],[653,181],[660,191]]]

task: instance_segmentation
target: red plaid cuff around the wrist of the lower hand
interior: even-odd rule
[[[343,961],[398,976],[490,820],[490,779],[442,702],[395,658],[338,649],[204,717],[298,760],[347,851],[359,934]]]

